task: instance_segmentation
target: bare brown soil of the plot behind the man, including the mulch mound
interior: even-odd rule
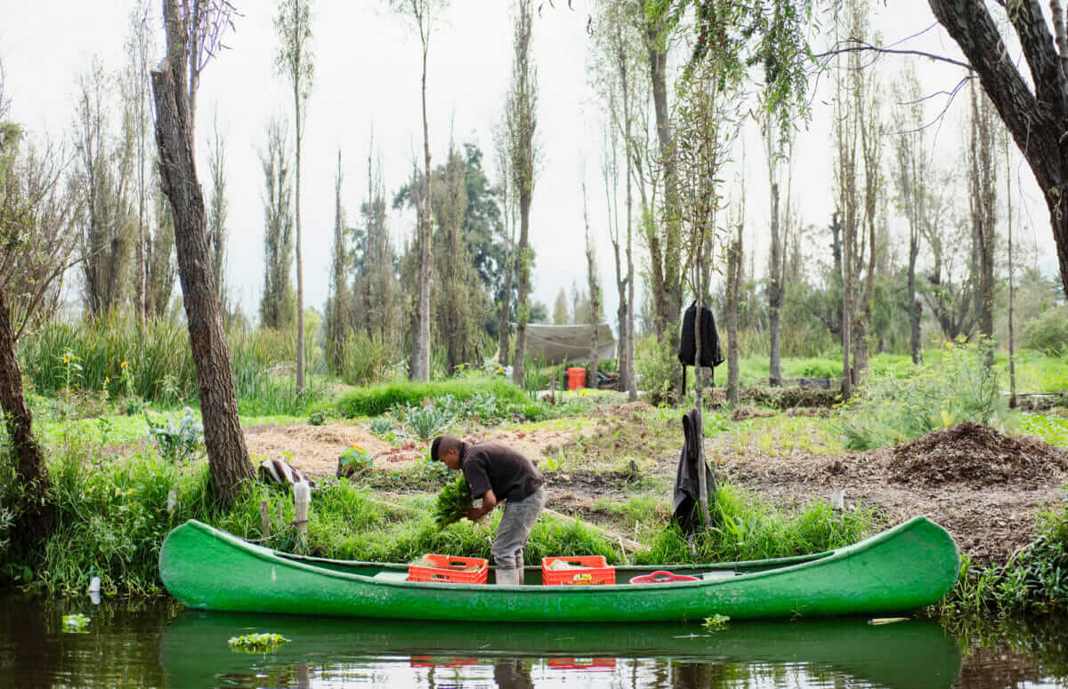
[[[644,402],[606,407],[592,417],[595,422],[583,430],[482,428],[465,437],[501,440],[538,461],[549,487],[548,507],[562,512],[604,524],[610,516],[600,513],[599,500],[654,492],[668,502],[682,445],[678,419],[662,419]],[[391,444],[350,423],[261,426],[247,429],[246,439],[253,454],[284,459],[316,479],[333,476],[337,459],[352,445],[367,450],[376,468],[390,470],[412,466],[427,451],[418,440]],[[778,507],[828,500],[842,491],[847,507],[873,509],[886,525],[927,515],[980,563],[1005,562],[1030,543],[1037,513],[1065,498],[1068,481],[1068,452],[976,424],[893,449],[841,454],[765,454],[739,448],[733,439],[722,433],[706,440],[706,456],[718,472]]]

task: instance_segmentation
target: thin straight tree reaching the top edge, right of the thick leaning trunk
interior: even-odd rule
[[[293,111],[296,155],[294,212],[297,249],[297,391],[304,388],[304,263],[300,257],[300,145],[304,140],[304,117],[312,90],[315,63],[312,60],[312,25],[309,0],[280,0],[274,32],[279,49],[274,64],[293,86]]]

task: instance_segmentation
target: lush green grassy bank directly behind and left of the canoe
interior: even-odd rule
[[[0,567],[0,584],[74,594],[98,576],[109,593],[158,593],[157,558],[170,529],[195,518],[245,538],[261,538],[261,499],[268,500],[277,525],[266,545],[339,559],[407,562],[426,552],[489,558],[490,534],[500,518],[500,511],[494,512],[488,530],[468,522],[439,530],[431,507],[434,493],[446,479],[440,465],[417,465],[390,478],[390,482],[428,484],[426,494],[391,501],[370,487],[378,481],[375,475],[357,482],[328,481],[315,493],[303,542],[281,526],[294,516],[286,491],[251,484],[232,509],[216,509],[203,460],[173,463],[155,450],[115,458],[106,454],[103,442],[67,438],[54,448],[49,469],[54,482],[50,497],[58,509],[56,531],[25,560]],[[12,490],[10,481],[5,485]],[[172,491],[174,498],[169,501]],[[842,515],[823,503],[780,511],[724,484],[712,506],[718,526],[696,540],[694,558],[682,534],[664,518],[670,510],[665,499],[635,495],[613,509],[622,528],[644,525],[639,539],[645,549],[629,556],[638,563],[783,557],[837,547],[873,530],[865,512]],[[0,531],[0,544],[3,536]],[[613,563],[627,557],[581,520],[544,515],[531,534],[527,559],[537,562],[553,555],[603,555]]]

